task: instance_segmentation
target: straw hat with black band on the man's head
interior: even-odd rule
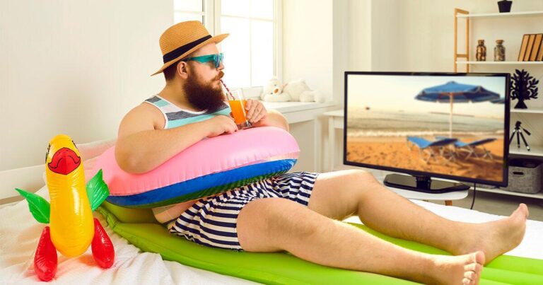
[[[154,74],[160,74],[164,69],[178,60],[186,57],[211,42],[218,44],[228,37],[228,34],[211,37],[206,27],[199,21],[177,23],[160,35],[160,50],[164,65]]]

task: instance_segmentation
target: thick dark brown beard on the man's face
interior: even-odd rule
[[[221,71],[212,82],[202,82],[202,79],[191,72],[189,79],[183,85],[183,92],[193,107],[200,110],[214,112],[224,104],[224,95],[221,86],[215,88],[212,83],[224,76]],[[191,78],[192,77],[192,78]]]

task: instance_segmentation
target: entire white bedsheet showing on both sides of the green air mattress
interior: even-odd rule
[[[37,192],[49,199],[47,189]],[[428,202],[416,204],[455,221],[481,223],[501,216],[458,207],[445,207]],[[59,255],[55,284],[254,284],[177,262],[165,261],[158,254],[140,252],[127,240],[112,233],[100,214],[95,214],[105,226],[115,245],[115,264],[110,269],[98,267],[91,249],[79,257]],[[356,217],[348,221],[358,221]],[[358,221],[359,222],[359,221]],[[33,272],[33,252],[43,224],[37,223],[25,201],[0,209],[0,284],[30,284],[38,281]],[[528,221],[525,239],[508,255],[543,259],[543,222]]]

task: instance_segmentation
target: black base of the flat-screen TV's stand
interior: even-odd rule
[[[462,183],[432,180],[429,176],[411,176],[401,174],[389,174],[385,176],[385,185],[404,190],[425,193],[446,193],[468,190],[469,186]]]

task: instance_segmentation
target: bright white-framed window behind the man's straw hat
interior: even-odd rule
[[[258,88],[281,79],[281,0],[174,0],[174,21],[201,21],[209,33],[229,33],[221,42],[224,81]]]

